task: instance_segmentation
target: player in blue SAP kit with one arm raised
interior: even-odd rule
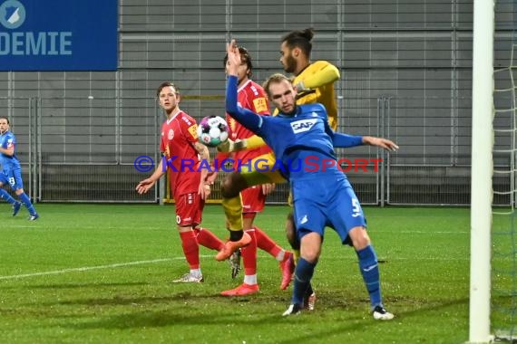
[[[366,219],[354,189],[337,164],[334,146],[353,147],[364,143],[395,150],[387,139],[350,136],[330,129],[327,110],[319,103],[297,105],[296,90],[283,74],[273,74],[264,83],[278,116],[262,117],[240,108],[237,102],[239,50],[228,44],[229,79],[226,110],[244,127],[255,132],[273,149],[275,166],[288,179],[294,200],[294,217],[301,244],[295,271],[291,304],[284,316],[303,309],[303,298],[321,253],[325,226],[332,227],[343,244],[354,247],[359,268],[370,296],[376,320],[391,320],[385,311],[380,288],[376,252],[366,233]],[[365,139],[369,138],[369,139]]]

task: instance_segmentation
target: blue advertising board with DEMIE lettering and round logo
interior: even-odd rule
[[[0,0],[0,71],[116,71],[117,0]]]

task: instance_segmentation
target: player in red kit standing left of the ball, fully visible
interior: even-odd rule
[[[201,228],[201,212],[210,187],[204,182],[208,170],[200,161],[210,161],[209,149],[198,142],[196,120],[180,110],[180,92],[169,81],[156,91],[167,119],[161,125],[160,149],[164,158],[151,175],[136,186],[139,194],[148,192],[165,172],[170,170],[171,191],[176,202],[176,223],[183,253],[190,272],[174,282],[203,282],[200,270],[200,244],[221,250],[224,243],[208,229]],[[165,162],[166,160],[166,162]]]

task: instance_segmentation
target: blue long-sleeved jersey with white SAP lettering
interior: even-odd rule
[[[289,180],[321,177],[320,173],[342,175],[337,163],[328,163],[336,161],[334,146],[353,147],[362,144],[360,136],[338,134],[330,129],[327,111],[319,103],[298,105],[294,114],[280,112],[278,116],[265,117],[240,108],[236,97],[237,78],[229,76],[227,111],[273,149],[277,163],[282,167],[279,172]],[[327,164],[325,168],[323,164]]]

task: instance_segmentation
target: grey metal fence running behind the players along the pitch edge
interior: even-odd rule
[[[194,101],[199,106],[200,100]],[[425,114],[430,101],[434,109],[435,103],[447,101],[444,113]],[[454,100],[456,110],[450,110],[450,101],[383,96],[361,100],[362,106],[370,104],[373,115],[350,117],[353,111],[345,111],[348,117],[341,120],[345,124],[340,131],[387,137],[401,146],[397,153],[371,147],[337,149],[363,204],[470,204],[470,100]],[[135,159],[147,156],[158,162],[160,157],[163,115],[155,100],[0,98],[1,105],[9,111],[18,140],[25,188],[37,202],[160,202],[166,196],[159,187],[144,196],[134,191],[138,181],[151,174],[137,170]],[[505,159],[496,156],[494,163],[509,166]],[[495,176],[493,184],[509,189],[511,180]],[[220,197],[218,186],[214,202]],[[278,185],[268,203],[285,204],[287,196],[288,185]],[[511,202],[509,196],[494,197],[495,205]]]

